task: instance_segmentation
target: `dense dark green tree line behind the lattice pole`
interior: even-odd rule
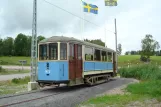
[[[44,36],[38,36],[37,42],[45,39]],[[16,38],[0,38],[0,56],[31,56],[32,36],[18,34]]]

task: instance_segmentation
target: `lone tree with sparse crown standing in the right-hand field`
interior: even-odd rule
[[[141,41],[142,43],[142,55],[143,57],[150,59],[151,55],[155,54],[155,50],[160,48],[160,45],[157,41],[153,39],[153,36],[147,34],[144,39]]]

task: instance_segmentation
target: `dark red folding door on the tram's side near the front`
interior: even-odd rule
[[[69,79],[82,78],[82,45],[70,44]]]

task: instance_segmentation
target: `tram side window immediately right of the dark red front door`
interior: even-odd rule
[[[84,54],[86,61],[93,61],[93,54],[94,54],[93,48],[85,47]]]

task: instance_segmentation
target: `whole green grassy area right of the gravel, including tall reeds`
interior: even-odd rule
[[[91,98],[79,106],[85,107],[124,107],[132,102],[144,103],[147,99],[161,101],[161,69],[154,64],[144,64],[121,68],[120,76],[139,79],[140,83],[128,85],[124,90],[130,94],[104,95]]]

